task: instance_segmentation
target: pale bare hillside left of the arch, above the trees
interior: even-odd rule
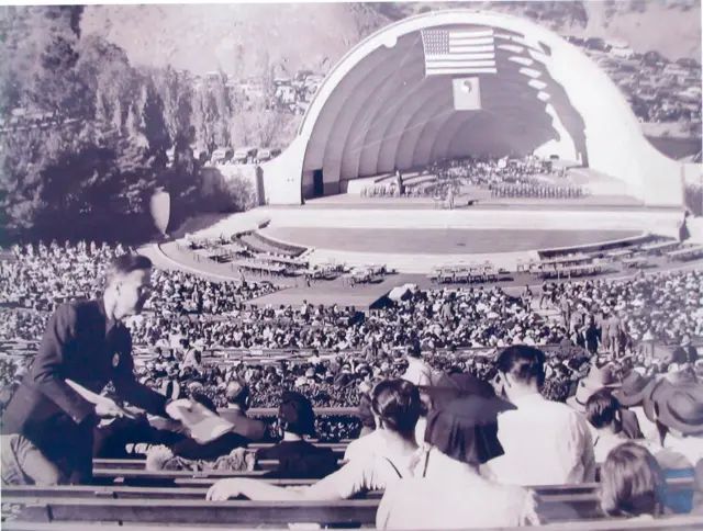
[[[327,70],[387,20],[352,4],[91,5],[81,29],[124,48],[136,65],[260,75]]]

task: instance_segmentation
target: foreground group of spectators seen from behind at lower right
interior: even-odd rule
[[[634,368],[615,381],[610,364],[588,363],[582,381],[595,385],[577,395],[582,405],[567,405],[539,393],[546,362],[534,347],[512,346],[495,359],[490,383],[466,373],[420,386],[406,375],[381,380],[366,395],[370,431],[347,447],[336,471],[328,451],[304,440],[314,433],[312,405],[284,392],[282,442],[257,457],[281,456],[288,468],[276,474],[320,481],[286,489],[233,477],[217,481],[208,499],[327,501],[384,490],[378,529],[525,526],[543,518],[531,487],[579,485],[598,474],[604,515],[702,510],[700,493],[692,498],[666,483],[702,466],[703,382],[691,365],[657,375]]]

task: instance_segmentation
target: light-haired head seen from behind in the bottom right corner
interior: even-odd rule
[[[665,487],[654,455],[639,444],[625,442],[610,451],[601,468],[601,508],[611,517],[657,516]]]

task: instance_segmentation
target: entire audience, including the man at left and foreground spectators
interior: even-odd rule
[[[31,268],[56,260],[47,249]],[[379,529],[537,523],[528,486],[590,483],[596,464],[605,515],[696,509],[666,479],[692,475],[703,459],[703,364],[690,340],[703,331],[699,271],[545,283],[539,301],[529,287],[522,296],[498,286],[415,289],[362,316],[308,303],[248,307],[256,286],[221,292],[121,252],[93,262],[102,278],[81,278],[81,289],[99,284],[101,295],[57,305],[51,295],[68,292],[52,269],[25,274],[21,263],[4,267],[16,268],[21,290],[54,286],[46,306],[56,309],[18,309],[20,298],[4,309],[19,317],[3,334],[48,318],[34,362],[0,368],[14,371],[15,387],[3,397],[4,484],[87,483],[93,455],[146,441],[147,466],[159,470],[242,471],[272,460],[270,476],[320,478],[298,489],[221,479],[208,492],[213,500],[382,489]],[[545,303],[556,318],[536,310]],[[640,348],[649,338],[679,346],[657,358]],[[256,358],[255,347],[279,344],[314,350]],[[231,358],[228,346],[248,355]],[[315,405],[357,415],[316,416]],[[274,423],[253,418],[254,406],[275,407]],[[339,463],[312,437],[356,440]],[[255,441],[270,444],[252,454]]]

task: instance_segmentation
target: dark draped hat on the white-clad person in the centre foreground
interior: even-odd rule
[[[503,455],[498,415],[515,406],[500,398],[467,395],[429,411],[425,441],[449,457],[473,465]]]

